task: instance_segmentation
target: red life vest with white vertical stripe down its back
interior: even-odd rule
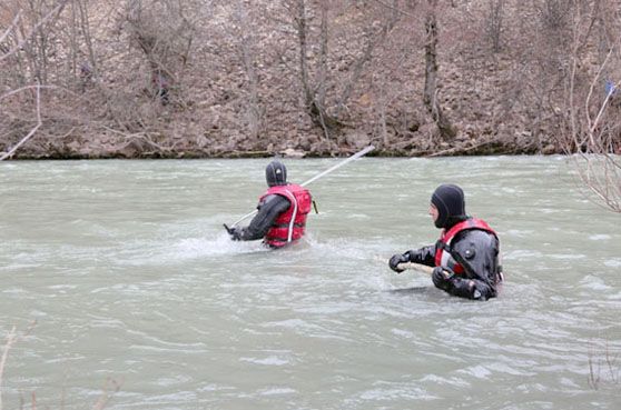
[[[260,197],[259,201],[270,194],[279,194],[289,200],[289,208],[276,218],[263,239],[270,247],[280,248],[304,236],[312,198],[307,189],[295,183],[272,187]]]

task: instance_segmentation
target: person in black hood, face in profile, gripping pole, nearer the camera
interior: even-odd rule
[[[403,262],[435,267],[432,279],[436,288],[461,298],[495,298],[503,279],[499,237],[485,221],[466,214],[462,189],[440,186],[433,192],[430,214],[435,227],[442,229],[440,240],[394,254],[388,262],[391,269],[402,272],[398,264]]]

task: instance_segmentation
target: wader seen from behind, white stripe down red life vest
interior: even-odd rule
[[[282,248],[304,236],[313,200],[307,189],[287,182],[287,169],[278,160],[265,168],[265,179],[268,189],[259,198],[255,218],[245,228],[227,230],[235,241],[263,239],[270,248]]]

